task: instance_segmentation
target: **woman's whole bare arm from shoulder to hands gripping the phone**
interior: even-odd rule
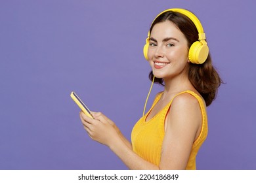
[[[201,114],[198,107],[197,101],[189,94],[182,94],[173,100],[166,119],[167,129],[159,167],[133,152],[131,143],[104,114],[93,113],[95,120],[88,118],[83,112],[80,117],[89,136],[109,146],[129,169],[185,169],[200,124]]]

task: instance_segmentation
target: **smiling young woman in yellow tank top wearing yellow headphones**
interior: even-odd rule
[[[161,12],[150,27],[144,56],[150,79],[164,86],[127,141],[100,112],[80,112],[91,139],[109,148],[129,169],[196,169],[196,154],[207,137],[206,106],[221,78],[208,53],[199,20],[184,9]]]

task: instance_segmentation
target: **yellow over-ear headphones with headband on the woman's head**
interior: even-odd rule
[[[158,14],[158,16],[160,16],[161,14],[167,11],[179,12],[181,14],[184,14],[185,16],[190,18],[190,20],[192,20],[194,25],[196,25],[196,29],[198,29],[198,41],[194,42],[190,46],[188,51],[188,59],[192,63],[196,63],[196,64],[204,63],[209,54],[209,48],[207,46],[207,42],[205,41],[205,33],[203,32],[202,24],[200,23],[198,18],[194,14],[192,14],[192,12],[185,9],[181,9],[181,8],[172,8],[172,9],[164,10],[163,12]],[[158,18],[158,16],[156,16],[156,18]],[[156,18],[154,19],[154,21],[156,20]],[[149,39],[150,39],[150,31],[148,31],[148,38],[146,39],[146,44],[143,48],[144,57],[146,58],[146,60],[148,60]]]

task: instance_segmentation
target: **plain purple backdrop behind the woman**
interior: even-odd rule
[[[73,90],[130,139],[150,87],[142,47],[166,8],[201,20],[226,84],[207,108],[198,169],[256,169],[255,2],[0,1],[0,169],[127,169],[92,141]],[[160,92],[154,86],[154,94]]]

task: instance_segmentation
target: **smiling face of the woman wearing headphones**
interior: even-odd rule
[[[154,25],[150,34],[148,61],[157,78],[165,80],[187,76],[188,42],[173,22]]]

